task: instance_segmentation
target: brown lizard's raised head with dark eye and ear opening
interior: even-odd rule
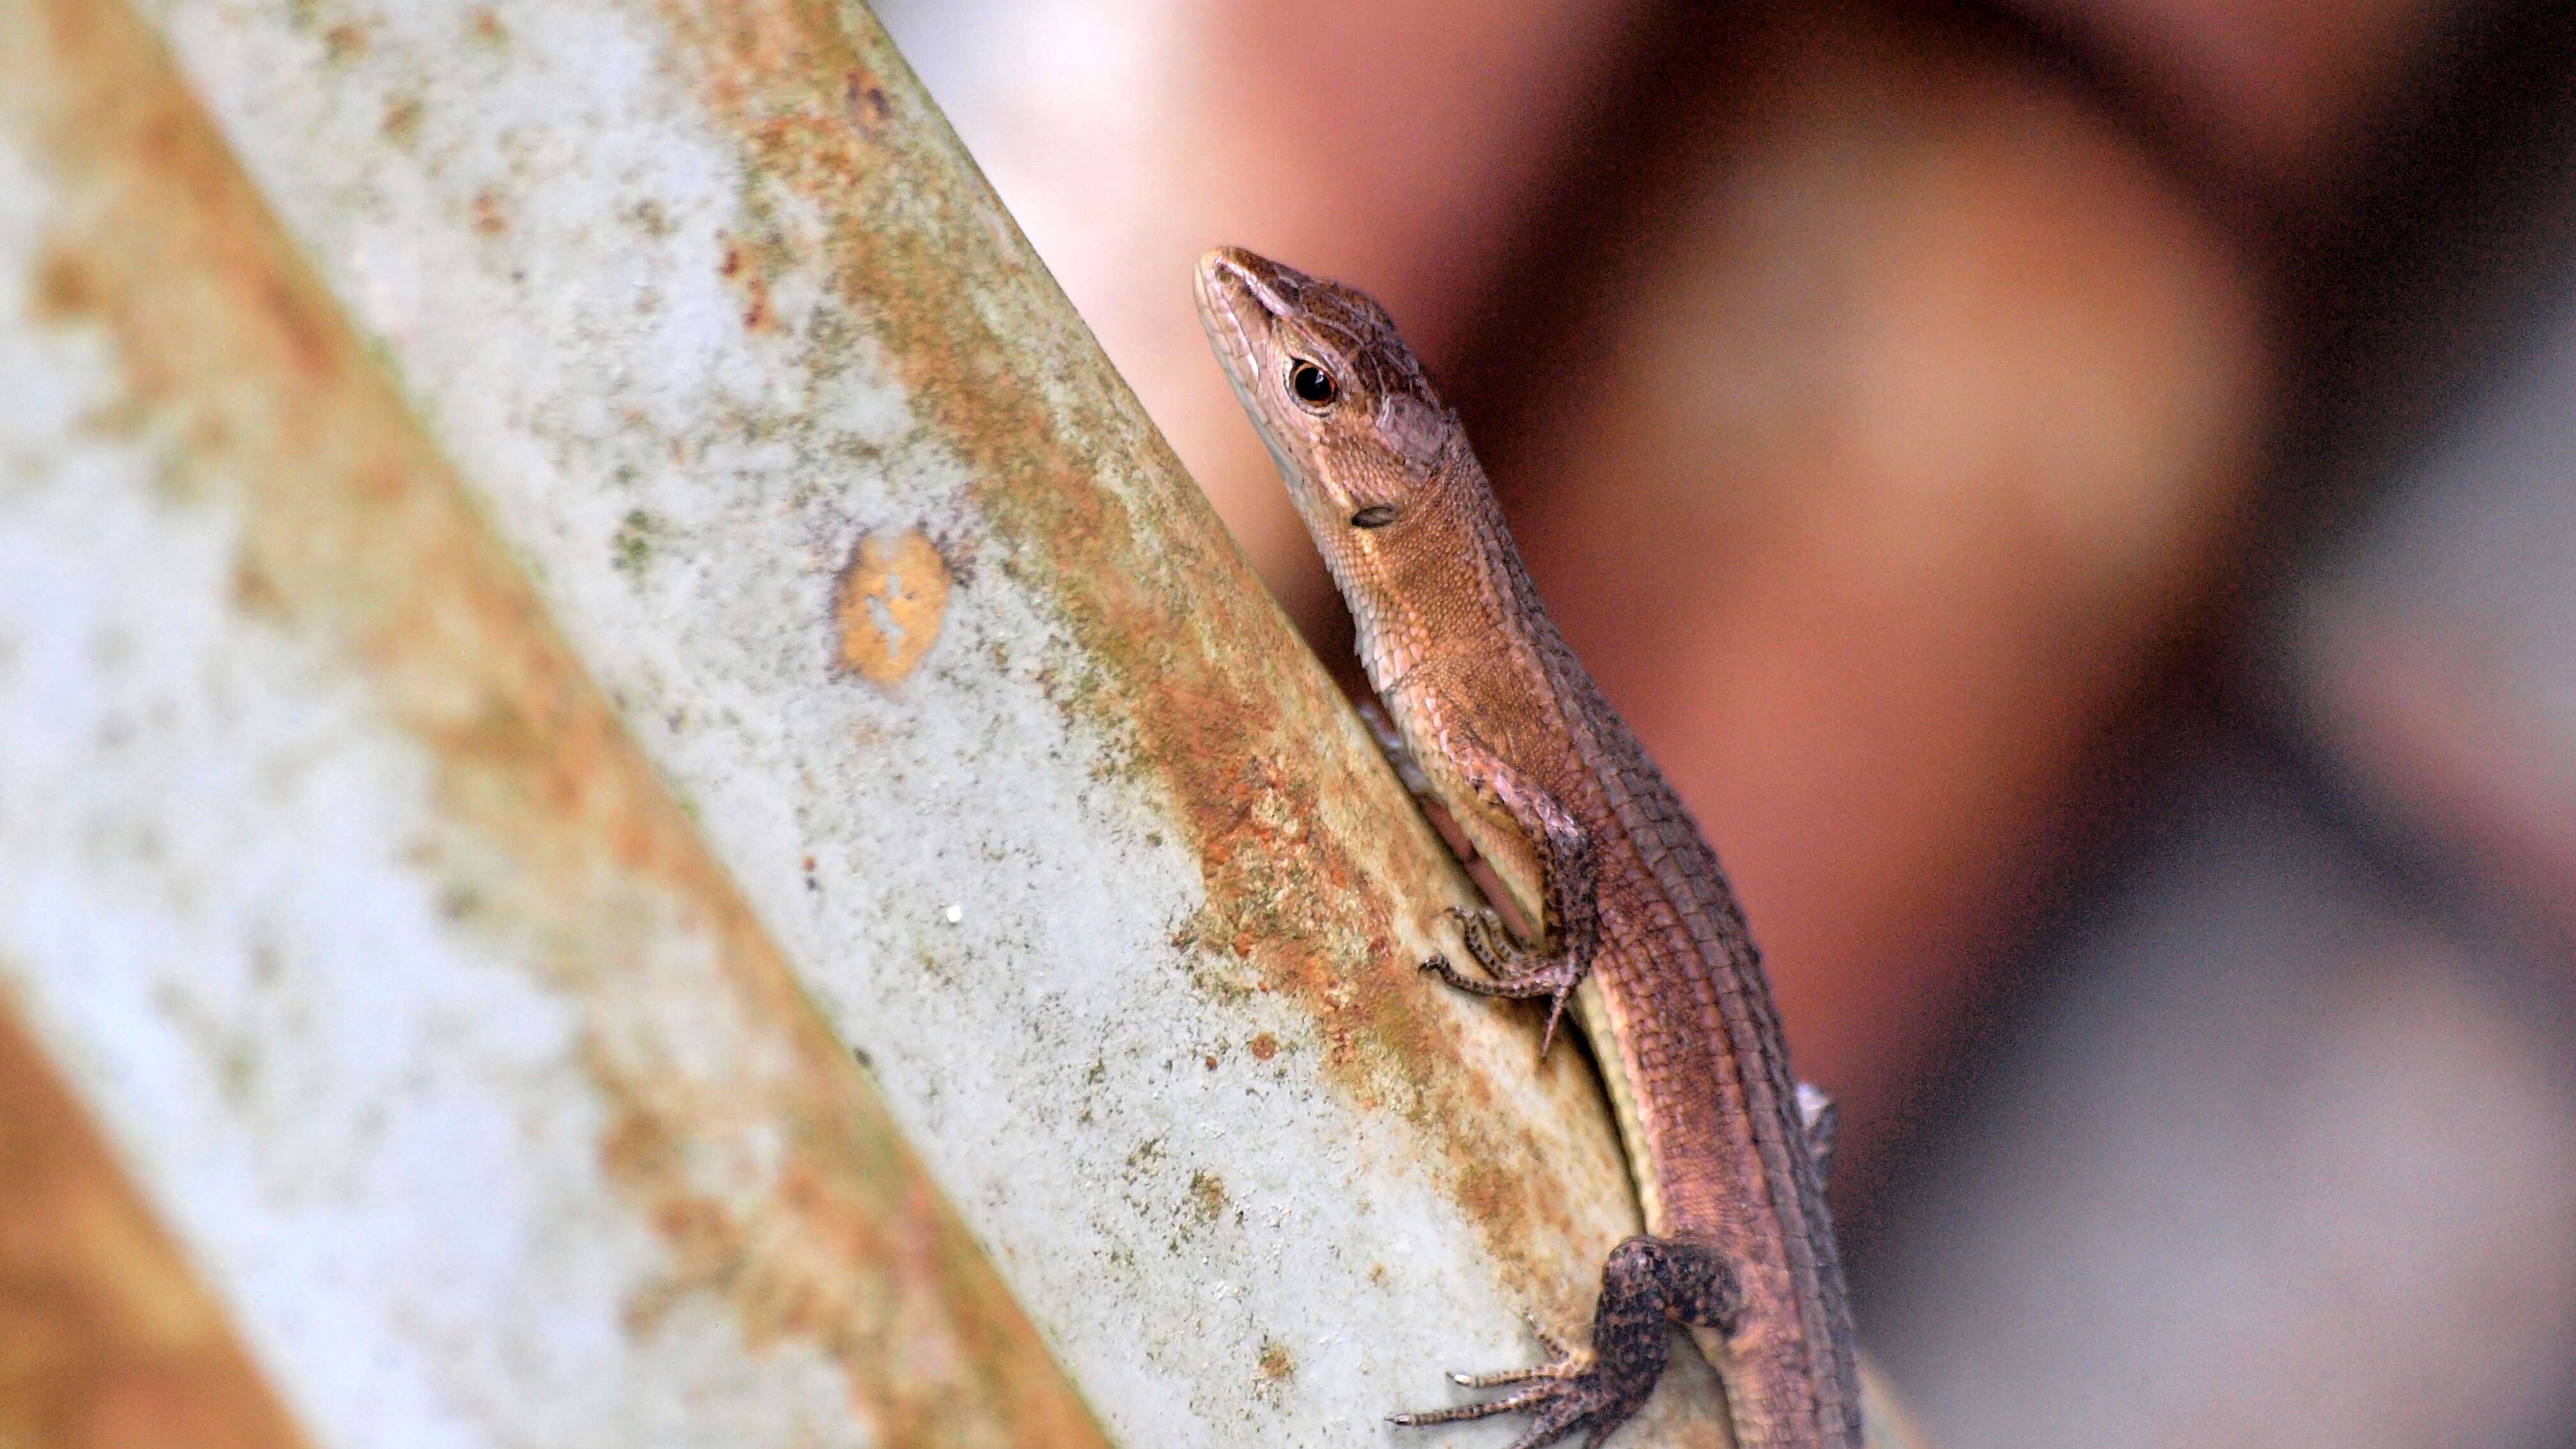
[[[1218,248],[1198,320],[1345,593],[1417,539],[1417,508],[1466,451],[1386,309],[1337,281]],[[1427,541],[1427,539],[1425,539]]]

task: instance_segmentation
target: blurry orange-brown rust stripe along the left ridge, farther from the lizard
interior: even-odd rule
[[[0,124],[28,137],[72,196],[39,276],[46,320],[108,343],[124,407],[149,423],[134,436],[165,449],[173,487],[240,513],[234,578],[255,616],[335,650],[420,740],[453,833],[422,869],[446,871],[448,897],[474,902],[451,928],[505,933],[510,954],[541,962],[544,985],[580,1008],[585,1062],[613,1104],[598,1165],[672,1258],[665,1281],[626,1302],[626,1330],[649,1336],[670,1305],[698,1299],[737,1318],[752,1343],[811,1343],[881,1444],[1100,1446],[992,1263],[157,39],[124,5],[36,0],[36,13],[21,34],[39,44],[0,49]],[[904,544],[894,557],[920,567]],[[714,967],[701,967],[708,957]],[[755,1044],[708,1060],[685,1024],[636,1006],[649,993],[693,993],[685,1000],[747,1024]],[[21,1122],[10,1111],[0,1132]],[[696,1171],[711,1155],[768,1160],[768,1142],[788,1145],[775,1171],[721,1191]],[[21,1178],[8,1173],[0,1194]],[[0,1238],[18,1222],[0,1222]],[[46,1299],[54,1289],[36,1287],[39,1307],[23,1312],[90,1312],[90,1299]],[[211,1307],[137,1302],[103,1307],[95,1323],[75,1315],[72,1341],[219,1323]],[[129,1361],[106,1354],[95,1372]],[[72,1446],[100,1426],[139,1423],[165,1392],[152,1374],[116,1377],[121,1397],[100,1387],[85,1403],[111,1408],[80,1423],[39,1426],[31,1415],[54,1410],[0,1395],[0,1439]],[[222,1395],[250,1405],[237,1415],[252,1428],[191,1418],[185,1431],[129,1441],[291,1444],[258,1377],[247,1366],[237,1377],[247,1387]],[[46,1431],[10,1434],[15,1423]]]

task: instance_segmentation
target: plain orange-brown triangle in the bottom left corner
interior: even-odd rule
[[[0,1444],[304,1444],[5,1000]]]

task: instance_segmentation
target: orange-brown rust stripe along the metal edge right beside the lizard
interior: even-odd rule
[[[1484,1127],[1484,1080],[1458,1067],[1461,1044],[1422,1008],[1414,962],[1391,949],[1401,931],[1388,902],[1455,892],[1445,851],[1427,830],[1327,810],[1373,797],[1355,755],[1316,748],[1347,727],[1347,704],[1095,343],[1056,325],[1069,307],[948,137],[853,121],[850,77],[902,75],[891,44],[868,18],[814,0],[662,0],[662,13],[703,67],[701,101],[747,152],[734,235],[788,235],[773,217],[824,219],[819,250],[737,240],[729,266],[819,266],[835,278],[925,425],[974,469],[974,498],[1015,567],[1043,578],[1092,660],[1095,676],[1061,704],[1128,743],[1121,768],[1164,781],[1206,882],[1203,918],[1182,936],[1234,949],[1231,962],[1200,959],[1206,990],[1301,1000],[1327,1080],[1437,1142],[1473,1189],[1463,1204],[1492,1256],[1525,1292],[1566,1294],[1561,1271],[1522,1256],[1533,1227],[1569,1225],[1551,1191],[1558,1165],[1533,1158],[1528,1137]],[[1175,276],[1175,294],[1182,286]],[[984,304],[961,304],[961,289]],[[1105,469],[1141,472],[1146,487],[1103,487]],[[1571,1057],[1546,1070],[1582,1070]],[[1620,1173],[1607,1155],[1602,1165]]]

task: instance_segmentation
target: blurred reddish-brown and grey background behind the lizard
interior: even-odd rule
[[[1937,1439],[2576,1441],[2566,8],[876,8],[1334,660],[1190,260],[1430,358]]]

